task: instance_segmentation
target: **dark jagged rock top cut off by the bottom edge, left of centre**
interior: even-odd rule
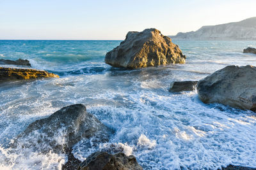
[[[79,170],[141,170],[143,169],[133,155],[127,157],[119,152],[115,155],[106,152],[95,152],[87,157],[78,167]]]

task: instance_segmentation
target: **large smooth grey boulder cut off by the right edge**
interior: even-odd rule
[[[198,96],[204,103],[221,103],[256,110],[256,67],[227,66],[198,81]]]

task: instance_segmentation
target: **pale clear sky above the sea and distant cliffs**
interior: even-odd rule
[[[125,39],[256,17],[256,0],[0,0],[0,39]]]

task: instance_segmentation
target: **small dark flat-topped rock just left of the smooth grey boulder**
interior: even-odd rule
[[[169,92],[193,91],[198,81],[172,81]]]

